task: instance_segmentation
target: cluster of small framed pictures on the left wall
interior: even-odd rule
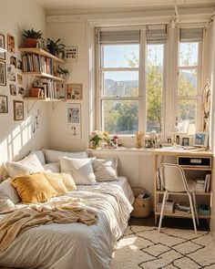
[[[13,104],[10,106],[14,109],[14,120],[22,120],[25,87],[21,56],[17,57],[15,49],[15,36],[0,33],[0,88],[9,88],[8,94],[0,94],[0,114],[8,113],[8,97],[14,96]]]

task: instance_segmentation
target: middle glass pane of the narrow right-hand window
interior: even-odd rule
[[[197,70],[179,70],[179,96],[197,95]]]

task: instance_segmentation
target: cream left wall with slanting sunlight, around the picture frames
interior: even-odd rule
[[[23,29],[34,27],[46,34],[46,14],[36,0],[1,0],[0,32],[15,36],[15,57],[21,59],[18,47],[22,43]],[[11,53],[6,53],[6,64],[9,63]],[[18,69],[15,68],[15,75]],[[0,94],[8,97],[9,113],[0,114],[0,163],[3,160],[20,159],[31,149],[48,147],[48,120],[46,103],[36,102],[33,109],[27,114],[25,101],[25,119],[14,120],[13,100],[22,100],[22,95],[11,96],[9,84],[18,88],[17,81],[6,81],[6,86],[0,86]],[[24,81],[25,84],[25,81]],[[24,85],[25,86],[25,85]],[[29,102],[31,107],[34,103]],[[32,124],[38,116],[39,129],[32,134]]]

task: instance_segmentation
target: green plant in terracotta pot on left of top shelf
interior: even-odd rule
[[[36,47],[37,41],[43,39],[43,33],[36,31],[34,28],[23,30],[24,47]]]

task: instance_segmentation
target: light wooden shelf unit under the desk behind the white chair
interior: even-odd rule
[[[212,199],[212,193],[210,191],[212,184],[212,156],[210,153],[206,153],[205,155],[207,156],[202,156],[202,154],[198,155],[198,153],[190,156],[176,155],[175,163],[182,167],[188,180],[195,180],[197,181],[197,185],[199,184],[195,191],[199,218],[210,220],[210,204]],[[163,191],[161,188],[161,184],[158,179],[158,171],[156,171],[155,178],[155,222],[157,222],[157,218],[160,215],[159,203],[162,202],[163,194],[165,191]],[[169,192],[168,199],[174,202],[174,206],[172,212],[164,212],[165,216],[191,218],[191,213],[189,210],[187,212],[182,211],[181,209],[179,210],[179,207],[176,206],[177,203],[179,205],[179,203],[182,204],[183,202],[188,202],[186,193]]]

